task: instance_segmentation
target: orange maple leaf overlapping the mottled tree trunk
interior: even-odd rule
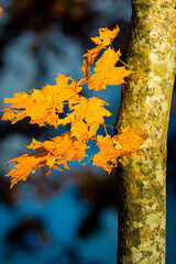
[[[109,134],[106,136],[97,136],[97,145],[100,148],[91,161],[98,167],[102,167],[109,174],[113,167],[118,166],[118,157],[139,152],[141,145],[146,140],[146,134],[140,129],[124,129],[121,134],[111,138]]]

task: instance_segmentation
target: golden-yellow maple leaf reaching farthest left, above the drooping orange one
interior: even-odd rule
[[[68,84],[68,80],[72,80],[72,84]],[[11,106],[3,110],[2,120],[11,120],[13,124],[30,117],[30,123],[37,123],[38,127],[47,123],[57,128],[57,113],[63,112],[64,102],[79,101],[80,90],[81,87],[75,80],[58,74],[54,86],[46,85],[41,90],[33,89],[31,95],[19,92],[14,94],[13,98],[6,98],[4,102]]]

